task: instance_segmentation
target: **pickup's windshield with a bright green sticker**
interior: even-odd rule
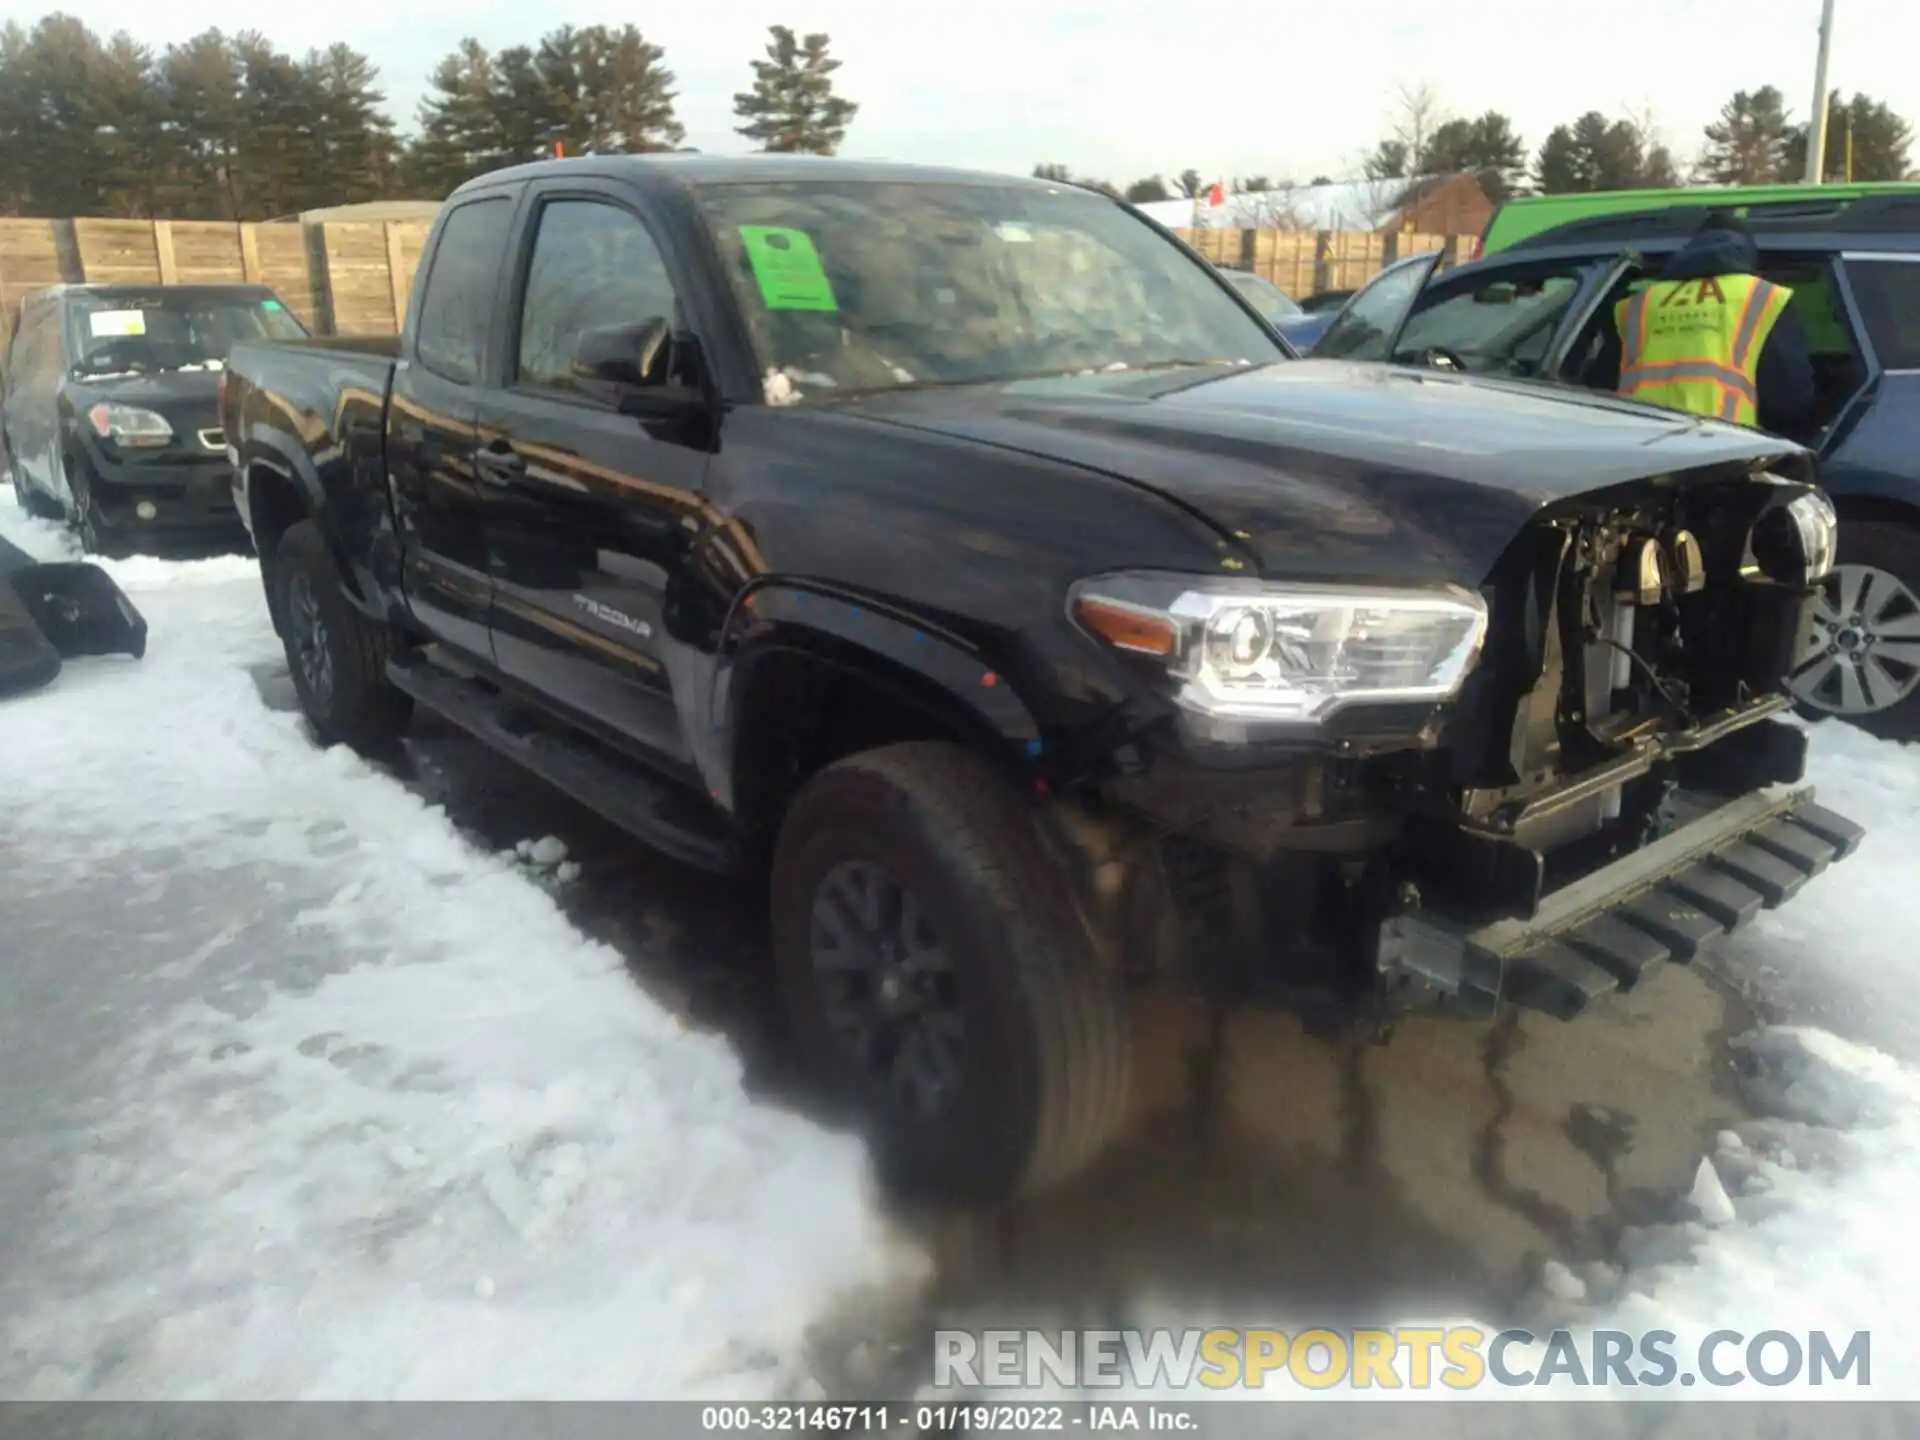
[[[739,184],[699,204],[770,399],[1288,359],[1200,261],[1079,190]]]

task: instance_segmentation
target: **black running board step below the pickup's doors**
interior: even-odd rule
[[[394,660],[386,674],[419,705],[662,854],[710,872],[733,868],[733,847],[718,816],[703,812],[703,801],[687,791],[534,720],[524,705],[492,685],[428,659]]]

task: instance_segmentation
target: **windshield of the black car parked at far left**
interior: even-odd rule
[[[300,340],[305,328],[273,296],[194,290],[83,292],[67,305],[73,372],[213,371],[238,340]]]

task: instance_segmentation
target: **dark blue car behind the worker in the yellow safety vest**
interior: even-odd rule
[[[1839,564],[1816,597],[1789,689],[1805,714],[1920,739],[1920,196],[1751,205],[1761,273],[1791,286],[1812,346],[1822,484]],[[1613,305],[1649,280],[1699,209],[1597,215],[1438,273],[1386,267],[1313,346],[1377,359],[1582,384]]]

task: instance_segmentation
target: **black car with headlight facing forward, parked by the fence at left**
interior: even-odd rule
[[[236,340],[305,326],[255,284],[61,284],[21,300],[6,353],[13,492],[88,551],[246,541],[219,378]]]

